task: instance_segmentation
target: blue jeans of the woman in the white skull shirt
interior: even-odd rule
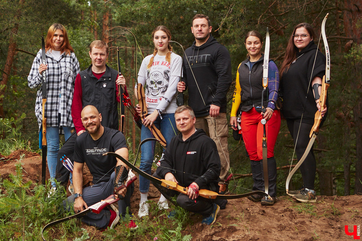
[[[170,143],[171,139],[174,136],[176,136],[178,132],[176,128],[174,113],[162,114],[162,120],[160,116],[158,116],[155,122],[153,122],[153,125],[155,125],[155,127],[157,127],[157,129],[161,131],[161,134],[166,139],[167,145],[168,143]],[[141,129],[141,141],[151,137],[154,136],[151,134],[150,129],[148,129],[148,127],[143,125]],[[150,175],[151,175],[153,156],[155,154],[155,145],[156,145],[155,141],[148,141],[141,146],[142,153],[141,153],[141,163],[139,165],[139,169]],[[142,176],[139,176],[139,191],[141,193],[147,193],[149,188],[150,188],[150,180]]]

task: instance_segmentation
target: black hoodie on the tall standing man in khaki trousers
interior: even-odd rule
[[[210,34],[206,43],[196,46],[195,41],[185,50],[185,54],[187,58],[183,62],[183,81],[189,90],[188,103],[195,116],[209,115],[211,104],[219,106],[220,113],[226,113],[226,94],[232,81],[231,60],[227,48]]]

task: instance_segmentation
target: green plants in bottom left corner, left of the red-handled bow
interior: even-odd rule
[[[62,210],[65,191],[57,191],[47,198],[47,188],[24,182],[21,162],[16,164],[16,175],[2,180],[0,186],[0,236],[2,240],[39,240],[42,227]],[[64,190],[64,189],[63,189]],[[68,224],[70,225],[70,223]]]

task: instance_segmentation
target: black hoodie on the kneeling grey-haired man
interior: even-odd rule
[[[199,189],[218,191],[220,168],[215,142],[202,129],[197,129],[186,141],[182,140],[182,133],[172,138],[156,173],[164,177],[171,172],[184,187],[195,182]]]

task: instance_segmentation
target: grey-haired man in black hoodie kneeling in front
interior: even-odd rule
[[[218,192],[220,181],[220,158],[215,142],[202,129],[195,128],[195,115],[191,107],[180,106],[175,111],[177,129],[175,136],[161,159],[161,165],[154,177],[188,186],[186,194],[167,189],[161,185],[157,189],[168,199],[177,197],[182,208],[201,214],[202,223],[211,225],[216,220],[220,206],[225,208],[227,200],[212,200],[198,196],[199,189]],[[218,202],[216,204],[215,202]]]

